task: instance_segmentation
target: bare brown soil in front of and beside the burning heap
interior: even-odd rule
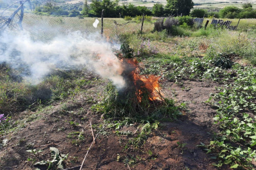
[[[83,169],[216,169],[211,165],[213,163],[211,156],[196,145],[200,142],[209,144],[212,132],[218,130],[212,126],[215,111],[204,101],[209,99],[210,93],[216,93],[215,87],[220,85],[188,80],[184,81],[183,86],[168,81],[163,81],[161,84],[169,97],[175,98],[177,103],[186,103],[184,115],[175,122],[160,122],[159,128],[150,134],[143,148],[138,150],[124,150],[122,141],[127,141],[129,138],[127,136],[100,135],[89,151]],[[92,94],[97,94],[98,88],[91,86],[85,88],[90,88]],[[63,111],[64,107],[65,111]],[[100,115],[90,111],[90,107],[88,99],[83,95],[77,95],[65,103],[56,103],[48,110],[38,113],[36,121],[31,121],[18,133],[7,137],[9,139],[7,146],[0,150],[1,162],[4,163],[2,168],[34,169],[34,163],[28,161],[28,158],[34,158],[36,162],[51,160],[49,147],[56,147],[63,154],[69,153],[64,168],[79,166],[93,141],[89,121],[92,124],[102,121]],[[76,112],[81,114],[73,114]],[[33,113],[22,112],[20,115],[30,114]],[[70,121],[79,124],[71,126]],[[131,127],[129,130],[136,131],[136,128]],[[68,134],[75,131],[84,131],[82,142],[75,143],[76,137],[72,135],[67,138]],[[181,149],[177,142],[186,145]],[[26,152],[28,149],[40,149],[43,152],[33,156]],[[152,151],[152,155],[149,156],[148,150]],[[119,161],[117,161],[118,156]],[[130,165],[120,161],[126,158],[129,160],[136,158],[137,161]]]

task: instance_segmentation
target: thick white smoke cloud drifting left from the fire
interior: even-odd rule
[[[122,64],[109,43],[97,41],[95,36],[85,38],[79,31],[48,42],[33,39],[26,31],[0,35],[0,63],[29,70],[30,75],[25,78],[34,82],[39,82],[56,68],[86,67],[112,80],[118,88],[125,86]]]

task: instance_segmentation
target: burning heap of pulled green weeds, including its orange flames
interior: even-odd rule
[[[123,58],[118,56],[122,64],[120,76],[125,81],[125,86],[117,89],[108,84],[104,89],[104,99],[95,104],[92,109],[97,112],[110,113],[110,116],[136,117],[154,114],[157,117],[165,114],[176,113],[174,101],[164,98],[159,77],[143,74],[143,68],[134,58]],[[111,66],[111,64],[106,64]],[[112,117],[111,116],[111,117]]]

